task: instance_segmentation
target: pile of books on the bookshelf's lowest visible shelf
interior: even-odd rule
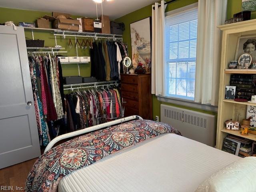
[[[253,143],[249,139],[235,135],[228,135],[226,138],[224,138],[222,150],[240,157],[246,157],[253,154],[252,146]]]

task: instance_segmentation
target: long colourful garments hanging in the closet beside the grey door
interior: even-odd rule
[[[65,104],[62,68],[54,56],[30,55],[28,59],[40,146],[47,146],[50,137],[56,137],[57,128],[62,127],[61,132],[66,132],[64,119],[60,120],[64,117]]]

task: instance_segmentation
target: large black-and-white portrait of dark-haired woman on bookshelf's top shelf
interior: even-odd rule
[[[238,38],[236,46],[235,60],[238,61],[239,57],[244,53],[249,53],[252,56],[252,63],[256,62],[256,35],[255,36],[242,36]]]

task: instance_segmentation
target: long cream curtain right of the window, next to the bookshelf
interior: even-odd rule
[[[198,0],[195,102],[218,105],[221,31],[227,0]]]

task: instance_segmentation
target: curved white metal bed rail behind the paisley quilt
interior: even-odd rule
[[[95,126],[92,126],[92,127],[88,127],[88,128],[85,128],[85,129],[81,129],[81,130],[78,130],[78,131],[74,131],[74,132],[71,132],[71,133],[66,133],[64,135],[60,135],[60,136],[54,138],[46,146],[44,152],[50,150],[54,146],[54,144],[58,143],[59,141],[61,141],[63,139],[68,139],[70,137],[75,137],[75,136],[78,136],[78,135],[82,135],[84,133],[88,133],[88,132],[91,132],[91,131],[96,131],[96,130],[102,129],[104,127],[116,125],[116,124],[119,124],[119,123],[124,123],[126,121],[131,121],[131,120],[134,120],[134,119],[141,119],[142,120],[142,118],[140,116],[133,115],[133,116],[130,116],[130,117],[125,117],[125,118],[122,118],[122,119],[117,119],[115,121],[110,121],[110,122],[107,122],[107,123],[102,123],[100,125],[95,125]]]

